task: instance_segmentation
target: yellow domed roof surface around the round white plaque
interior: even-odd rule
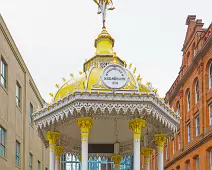
[[[125,68],[126,69],[126,68]],[[64,98],[68,94],[72,94],[76,91],[99,91],[99,92],[112,92],[112,89],[107,88],[102,80],[104,68],[100,67],[92,67],[89,71],[79,75],[76,78],[72,78],[70,81],[66,82],[56,93],[54,101],[58,101],[58,99]],[[151,90],[141,84],[135,78],[135,75],[131,73],[130,70],[126,69],[128,82],[125,87],[122,89],[118,89],[117,91],[137,91],[137,92],[150,92]]]

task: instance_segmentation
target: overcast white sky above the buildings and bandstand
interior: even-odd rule
[[[137,67],[163,97],[178,75],[187,15],[212,21],[212,0],[113,0],[107,30],[121,59]],[[62,77],[94,56],[101,16],[93,0],[0,0],[3,16],[31,75],[48,102]]]

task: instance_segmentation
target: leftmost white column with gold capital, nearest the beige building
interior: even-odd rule
[[[49,170],[55,170],[55,147],[60,139],[58,132],[48,132],[46,140],[49,141]]]

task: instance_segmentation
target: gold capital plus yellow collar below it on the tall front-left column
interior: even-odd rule
[[[82,141],[88,140],[89,132],[93,126],[92,118],[79,118],[78,119],[78,126],[82,133]]]

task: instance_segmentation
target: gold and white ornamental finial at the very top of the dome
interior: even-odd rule
[[[113,7],[113,1],[112,0],[93,0],[98,5],[98,13],[102,14],[102,22],[103,22],[103,28],[105,27],[106,22],[106,13],[108,10],[114,10],[115,7]]]

